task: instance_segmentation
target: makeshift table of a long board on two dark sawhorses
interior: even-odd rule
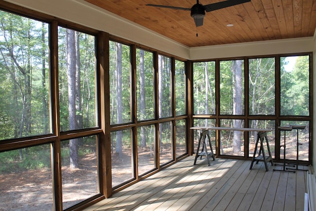
[[[271,155],[271,151],[270,151],[269,141],[268,141],[268,138],[267,138],[267,132],[271,132],[272,129],[246,128],[246,127],[190,127],[190,129],[199,129],[199,130],[203,130],[203,131],[205,131],[205,130],[256,131],[256,132],[258,132],[258,135],[257,135],[255,152],[253,154],[253,158],[252,158],[250,169],[252,169],[253,163],[255,161],[256,161],[256,163],[258,163],[259,161],[263,161],[265,163],[265,167],[266,167],[267,171],[269,170],[268,169],[268,162],[269,161],[271,161],[271,164],[273,166],[272,155]],[[200,137],[202,137],[201,135],[202,135],[202,133],[200,134]],[[208,135],[208,133],[207,133],[207,135]],[[206,136],[205,136],[205,138],[206,138]],[[209,138],[209,136],[208,136],[208,138]],[[264,139],[266,139],[269,156],[266,156],[265,151],[264,151],[264,147],[263,147]],[[200,156],[200,155],[198,155],[199,154],[198,151],[199,151],[200,141],[201,141],[201,138],[199,139],[199,142],[198,142],[197,154],[196,154],[196,159],[195,159],[194,164],[196,164],[197,158],[198,158],[198,156]],[[257,147],[258,147],[259,141],[260,141],[259,156],[255,157],[256,153],[257,153]],[[204,143],[205,143],[205,139],[204,139]],[[211,144],[210,144],[210,147],[211,147]],[[261,156],[261,153],[262,153],[262,156]],[[209,164],[208,156],[206,158],[207,158],[207,162],[208,162],[208,166],[209,166],[210,164]],[[215,160],[215,158],[213,158],[213,159]]]

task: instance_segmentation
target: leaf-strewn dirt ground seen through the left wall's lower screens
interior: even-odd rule
[[[130,153],[129,153],[130,154]],[[162,153],[170,157],[170,153]],[[144,150],[140,155],[139,171],[154,169],[154,156]],[[170,160],[170,159],[169,159]],[[167,160],[165,160],[167,161]],[[98,194],[96,155],[89,154],[80,162],[80,169],[62,167],[63,209]],[[113,186],[132,178],[131,156],[113,156]],[[17,171],[0,174],[0,211],[50,211],[53,210],[52,175],[50,169]]]

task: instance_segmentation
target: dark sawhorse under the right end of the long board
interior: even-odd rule
[[[269,155],[266,156],[265,154],[265,150],[264,150],[264,139],[266,139],[266,143],[267,143],[267,148],[268,148],[268,153]],[[258,148],[258,143],[260,141],[260,149],[259,149],[259,154],[256,157],[257,154],[257,148]],[[262,155],[261,155],[262,152]],[[257,141],[256,141],[256,146],[255,146],[255,151],[253,153],[253,157],[252,157],[252,161],[251,161],[251,165],[250,165],[250,169],[252,169],[253,163],[256,162],[256,164],[259,163],[259,161],[263,161],[265,163],[265,167],[266,167],[266,171],[268,171],[268,162],[271,162],[271,165],[273,166],[273,160],[272,160],[272,155],[271,155],[271,151],[270,151],[270,146],[269,146],[269,141],[268,141],[268,137],[267,137],[267,132],[259,132],[258,136],[257,136]]]

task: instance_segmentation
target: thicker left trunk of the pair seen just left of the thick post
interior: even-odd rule
[[[75,31],[66,30],[67,44],[67,81],[68,81],[68,112],[69,112],[69,129],[77,129],[76,125],[76,38]],[[79,168],[78,159],[78,139],[69,141],[70,168]]]

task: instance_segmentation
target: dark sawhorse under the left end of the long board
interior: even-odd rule
[[[208,138],[208,144],[211,149],[211,152],[207,152],[206,138]],[[201,144],[202,144],[202,150],[201,152],[199,152],[199,147]],[[200,157],[200,159],[202,159],[202,156],[206,156],[208,166],[211,165],[209,161],[210,157],[213,157],[213,161],[215,161],[215,156],[214,156],[212,145],[211,145],[211,138],[209,137],[208,130],[204,130],[203,132],[201,132],[199,136],[198,145],[197,145],[197,154],[196,154],[196,158],[194,159],[194,165],[196,165],[197,163],[197,158]]]

